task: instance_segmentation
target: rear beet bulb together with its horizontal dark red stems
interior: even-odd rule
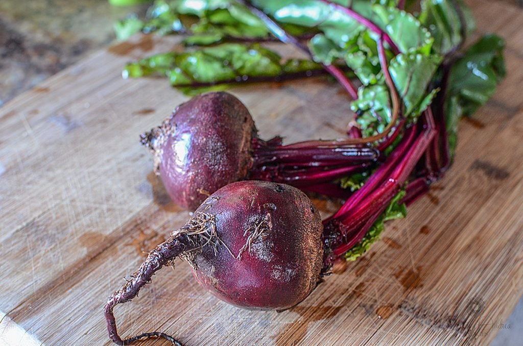
[[[283,146],[280,137],[260,140],[247,108],[223,92],[183,103],[141,140],[170,197],[189,210],[234,181],[317,184],[365,170],[378,157],[376,149],[339,141]]]

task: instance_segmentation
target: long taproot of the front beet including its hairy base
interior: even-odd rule
[[[213,237],[216,237],[213,215],[196,213],[184,227],[175,230],[167,241],[149,252],[147,259],[142,263],[138,271],[131,275],[131,280],[127,281],[120,290],[109,297],[104,308],[107,331],[109,332],[109,338],[114,343],[128,345],[140,339],[157,337],[164,338],[173,344],[181,345],[173,337],[161,332],[143,333],[122,340],[118,335],[116,319],[112,310],[116,305],[129,302],[138,296],[140,289],[151,282],[151,278],[156,271],[162,269],[166,264],[173,264],[177,257],[190,259],[193,251],[201,249]]]

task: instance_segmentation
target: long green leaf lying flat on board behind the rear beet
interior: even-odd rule
[[[185,52],[156,54],[128,64],[123,76],[165,75],[173,86],[194,95],[201,90],[224,90],[252,77],[280,77],[320,69],[319,64],[310,60],[282,61],[280,55],[259,44],[224,43]]]

